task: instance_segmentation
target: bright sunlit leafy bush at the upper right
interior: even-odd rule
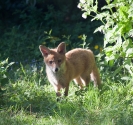
[[[132,0],[106,0],[107,5],[98,11],[98,0],[80,0],[78,7],[87,15],[93,17],[92,21],[99,20],[102,25],[95,32],[104,34],[104,52],[106,63],[111,67],[117,66],[113,76],[120,71],[128,71],[128,76],[122,79],[133,78],[133,3]]]

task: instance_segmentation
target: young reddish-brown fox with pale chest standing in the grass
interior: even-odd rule
[[[66,52],[65,42],[61,42],[57,48],[49,49],[39,45],[49,82],[53,85],[56,96],[68,96],[69,84],[73,80],[81,89],[87,86],[90,80],[95,87],[100,87],[101,79],[96,65],[95,57],[90,49],[75,48]]]

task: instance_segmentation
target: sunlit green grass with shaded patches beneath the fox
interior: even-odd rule
[[[33,70],[34,69],[34,70]],[[14,71],[2,96],[0,125],[132,125],[133,85],[104,79],[80,91],[71,83],[69,96],[56,101],[43,70]]]

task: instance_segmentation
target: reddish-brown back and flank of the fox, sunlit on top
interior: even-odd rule
[[[71,65],[71,71],[78,75],[86,70],[92,71],[95,65],[93,52],[89,49],[73,49],[66,53],[66,61]],[[74,75],[74,76],[75,76]]]

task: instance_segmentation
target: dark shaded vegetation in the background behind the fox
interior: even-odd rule
[[[61,41],[67,50],[86,43],[102,47],[102,34],[93,31],[100,22],[83,19],[77,8],[79,0],[1,0],[0,1],[0,60],[31,62],[40,60],[40,44],[56,47]],[[99,0],[99,7],[105,2]],[[99,49],[95,50],[99,53]]]

